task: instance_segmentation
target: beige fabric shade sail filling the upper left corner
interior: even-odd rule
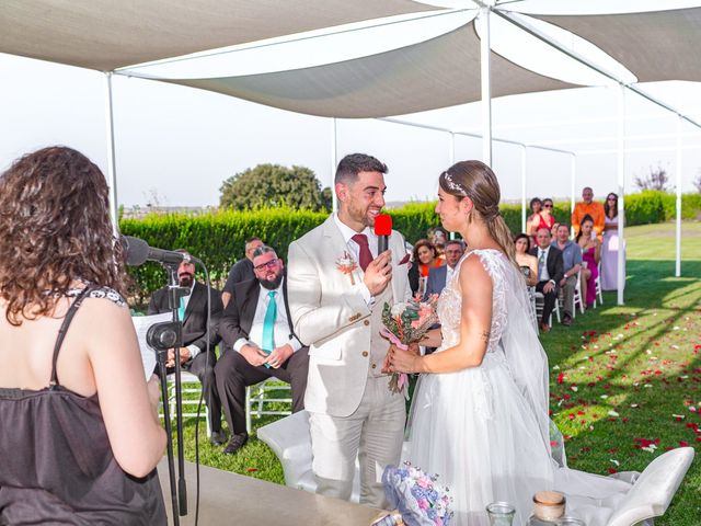
[[[114,69],[383,16],[411,0],[2,0],[0,52]]]

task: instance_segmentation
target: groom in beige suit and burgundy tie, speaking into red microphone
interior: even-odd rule
[[[338,213],[289,247],[288,294],[295,333],[309,344],[309,412],[317,492],[348,500],[355,459],[360,503],[383,507],[377,469],[398,464],[406,410],[389,390],[379,332],[382,307],[411,296],[403,237],[377,253],[375,218],[384,206],[387,167],[363,153],[338,163]]]

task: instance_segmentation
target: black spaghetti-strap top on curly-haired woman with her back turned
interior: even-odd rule
[[[58,332],[49,387],[0,388],[0,525],[168,524],[156,469],[142,479],[125,473],[110,447],[97,395],[72,392],[56,375],[83,298],[115,294],[85,287],[77,295]]]

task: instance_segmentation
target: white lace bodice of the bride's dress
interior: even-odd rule
[[[460,267],[462,262],[474,254],[482,262],[482,266],[492,278],[492,327],[490,329],[490,343],[486,352],[492,353],[502,339],[506,327],[507,309],[507,282],[505,273],[516,272],[508,259],[498,250],[484,249],[467,252],[456,265],[456,272],[450,283],[446,284],[438,299],[438,318],[441,324],[441,348],[452,347],[460,341],[460,311],[462,308],[462,294],[460,293]],[[513,268],[512,268],[513,267]]]

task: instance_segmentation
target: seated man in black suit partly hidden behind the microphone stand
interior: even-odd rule
[[[179,251],[184,252],[184,251]],[[182,262],[177,267],[177,278],[180,286],[189,288],[188,296],[181,298],[180,320],[183,322],[183,345],[180,348],[180,363],[184,370],[188,370],[199,378],[204,390],[204,398],[209,409],[209,439],[215,445],[227,442],[227,437],[221,430],[221,402],[215,382],[215,346],[219,341],[216,331],[216,318],[221,315],[221,294],[211,289],[211,325],[209,331],[209,353],[207,353],[207,287],[195,281],[195,265]],[[168,305],[168,287],[161,288],[151,295],[149,302],[149,315],[160,315],[170,312]],[[175,352],[168,352],[168,373],[172,373],[175,367]]]

